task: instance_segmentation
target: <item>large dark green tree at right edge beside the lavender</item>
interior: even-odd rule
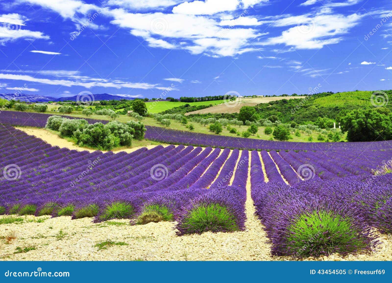
[[[347,140],[388,141],[392,139],[392,115],[376,110],[354,110],[341,118],[341,131]],[[329,136],[328,136],[329,137]]]

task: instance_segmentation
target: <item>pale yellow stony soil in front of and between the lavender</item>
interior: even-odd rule
[[[24,129],[28,132],[28,129]],[[37,136],[37,131],[34,130]],[[50,134],[47,131],[42,133]],[[72,148],[64,139],[37,136],[51,144]],[[56,138],[56,137],[53,137]],[[80,150],[80,148],[78,148]],[[131,149],[134,150],[134,149]],[[249,161],[250,164],[250,161]],[[265,171],[264,171],[265,172]],[[235,172],[234,172],[235,173]],[[176,222],[130,225],[129,220],[95,224],[92,218],[71,220],[70,216],[11,216],[12,224],[0,224],[0,260],[298,260],[271,256],[270,243],[260,220],[254,215],[247,178],[246,230],[234,233],[203,233],[177,236]],[[2,215],[0,218],[10,216]],[[338,254],[303,260],[392,260],[392,235],[380,234],[383,242],[371,254]],[[110,243],[105,245],[105,241]]]

